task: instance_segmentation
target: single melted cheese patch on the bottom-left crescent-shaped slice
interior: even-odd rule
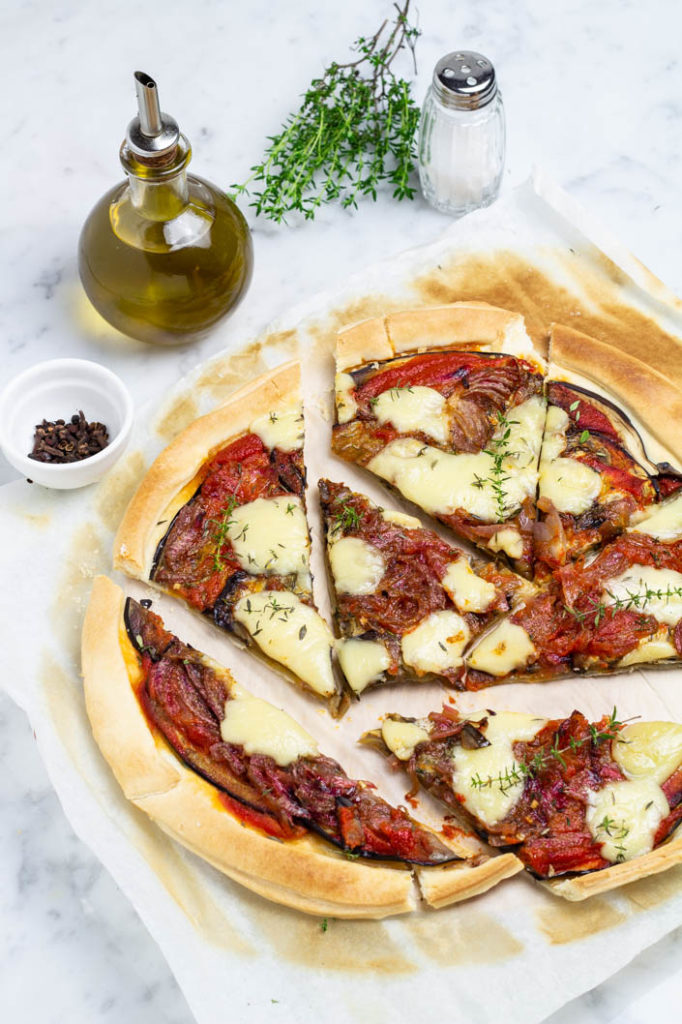
[[[318,753],[312,736],[286,712],[237,687],[232,693],[220,723],[224,742],[241,743],[247,754],[263,754],[283,767]]]

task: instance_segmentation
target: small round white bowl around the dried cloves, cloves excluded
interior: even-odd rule
[[[36,425],[66,420],[83,410],[103,423],[109,444],[80,462],[29,459]],[[94,483],[123,455],[133,422],[133,403],[123,381],[88,359],[49,359],[14,377],[0,394],[0,447],[14,469],[44,487],[71,490]]]

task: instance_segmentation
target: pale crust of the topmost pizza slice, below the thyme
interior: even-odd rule
[[[404,309],[346,328],[337,338],[337,370],[348,371],[408,352],[458,346],[507,352],[544,367],[520,313],[486,302],[455,302]]]

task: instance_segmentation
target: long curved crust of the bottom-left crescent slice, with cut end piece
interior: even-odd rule
[[[86,708],[95,740],[125,796],[184,847],[278,903],[336,918],[384,918],[414,909],[408,868],[348,859],[315,836],[281,843],[241,824],[220,804],[216,787],[155,737],[131,686],[136,656],[123,609],[123,592],[97,577],[83,628]],[[506,877],[492,870],[487,860],[458,866],[457,899]],[[420,868],[422,886],[430,870]]]

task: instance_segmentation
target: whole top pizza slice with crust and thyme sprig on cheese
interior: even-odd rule
[[[336,360],[334,452],[529,577],[545,365],[523,318],[390,313],[342,331]]]

